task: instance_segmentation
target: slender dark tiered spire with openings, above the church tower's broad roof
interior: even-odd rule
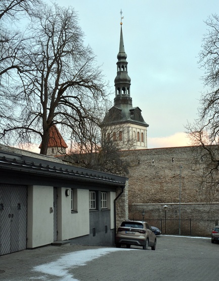
[[[120,12],[122,15],[122,11]],[[132,98],[130,97],[130,85],[131,79],[128,76],[127,71],[127,55],[124,49],[124,41],[122,34],[122,19],[124,17],[121,16],[121,29],[120,29],[120,41],[119,41],[119,52],[117,55],[117,75],[115,77],[115,98],[114,105],[117,107],[121,107],[122,104],[128,107],[132,107]]]

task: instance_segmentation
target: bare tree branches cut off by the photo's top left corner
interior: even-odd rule
[[[19,79],[22,71],[21,50],[25,48],[25,36],[17,27],[20,19],[31,14],[40,4],[40,0],[4,0],[0,2],[0,126],[14,123],[12,110],[16,108],[16,99],[9,99],[11,83]]]

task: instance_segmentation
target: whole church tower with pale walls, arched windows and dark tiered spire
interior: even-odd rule
[[[117,75],[114,80],[114,106],[105,115],[101,125],[102,135],[117,141],[121,150],[144,149],[147,148],[147,127],[149,125],[143,119],[142,110],[139,107],[133,107],[130,97],[131,79],[128,76],[127,55],[124,50],[122,18],[116,63]]]

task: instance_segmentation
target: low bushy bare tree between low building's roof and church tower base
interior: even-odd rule
[[[63,158],[85,168],[127,176],[134,157],[127,157],[127,150],[133,148],[133,141],[127,140],[125,134],[124,140],[120,139],[120,132],[127,131],[125,124],[105,126],[101,121],[105,119],[106,122],[105,115],[106,112],[100,112],[99,126],[90,124],[86,142],[81,142],[80,145],[78,142],[72,143],[71,150]],[[129,154],[132,152],[129,151]]]

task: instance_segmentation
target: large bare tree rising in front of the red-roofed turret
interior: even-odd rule
[[[99,109],[107,94],[102,70],[73,8],[43,5],[32,15],[29,40],[22,48],[19,81],[11,86],[9,100],[16,108],[16,122],[7,124],[2,138],[41,142],[46,154],[53,125],[75,142],[84,142],[89,124],[99,123]]]

